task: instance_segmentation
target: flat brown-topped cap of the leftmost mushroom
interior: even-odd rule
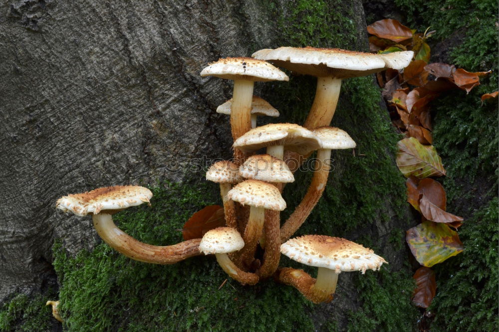
[[[120,210],[149,203],[152,196],[151,190],[145,187],[115,185],[63,196],[57,200],[55,207],[82,217],[88,213],[97,214],[104,210]]]

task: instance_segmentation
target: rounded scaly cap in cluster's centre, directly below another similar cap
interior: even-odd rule
[[[282,211],[286,202],[274,185],[260,180],[246,180],[238,183],[228,193],[229,199],[241,204],[263,207],[265,209]]]

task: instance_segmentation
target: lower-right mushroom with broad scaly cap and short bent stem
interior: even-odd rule
[[[330,302],[338,275],[343,272],[379,270],[386,261],[360,244],[326,235],[305,235],[281,245],[281,253],[299,263],[316,266],[317,279],[301,270],[279,271],[279,281],[298,289],[313,303]]]

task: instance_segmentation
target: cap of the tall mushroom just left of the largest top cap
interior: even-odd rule
[[[270,63],[248,57],[219,59],[204,68],[201,71],[201,76],[262,82],[289,80],[284,72]]]

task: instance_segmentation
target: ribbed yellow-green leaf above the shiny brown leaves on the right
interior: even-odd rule
[[[424,146],[414,137],[399,141],[397,146],[397,166],[404,176],[425,178],[445,175],[442,159],[433,146]]]

